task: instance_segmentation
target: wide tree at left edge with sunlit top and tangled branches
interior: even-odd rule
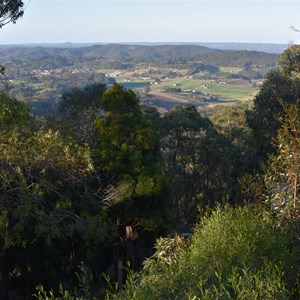
[[[40,282],[56,285],[81,259],[95,263],[92,252],[112,229],[89,148],[38,128],[25,105],[0,96],[0,296],[7,299],[29,296]]]

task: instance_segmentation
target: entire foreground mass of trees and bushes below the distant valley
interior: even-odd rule
[[[44,117],[1,93],[0,298],[299,298],[299,57],[206,115],[117,83]]]

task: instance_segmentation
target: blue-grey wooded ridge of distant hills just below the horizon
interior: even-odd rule
[[[149,61],[158,59],[197,59],[217,66],[243,66],[251,60],[252,64],[274,66],[279,55],[258,51],[231,51],[216,50],[195,45],[94,45],[80,48],[55,48],[55,47],[5,47],[0,48],[0,61],[24,58],[49,58],[55,57],[60,63],[70,64],[70,60],[81,59],[122,59]]]

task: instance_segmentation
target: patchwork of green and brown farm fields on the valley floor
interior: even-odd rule
[[[168,72],[170,70],[167,70]],[[239,72],[239,68],[222,68],[222,73]],[[193,104],[210,103],[226,103],[235,101],[252,100],[258,92],[258,84],[253,84],[241,79],[225,80],[222,76],[214,76],[214,79],[205,79],[201,76],[184,76],[178,72],[178,77],[168,78],[159,76],[149,76],[135,78],[134,74],[145,74],[147,69],[135,70],[135,72],[122,71],[115,77],[116,81],[124,85],[126,88],[135,91],[144,91],[149,95],[155,96],[161,100],[167,101],[173,99],[174,102],[182,104],[185,101],[190,101]],[[167,73],[166,70],[161,70],[161,73]],[[220,74],[222,74],[220,73]],[[199,78],[200,77],[200,78]],[[156,78],[156,80],[155,80]],[[159,80],[157,80],[159,78]],[[184,101],[183,101],[184,100]]]

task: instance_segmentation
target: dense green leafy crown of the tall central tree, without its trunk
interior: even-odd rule
[[[96,121],[94,162],[108,185],[112,182],[115,191],[123,190],[106,203],[117,209],[125,224],[138,220],[153,230],[162,224],[167,200],[158,132],[143,118],[131,90],[114,84],[104,92],[102,104],[106,115]]]

